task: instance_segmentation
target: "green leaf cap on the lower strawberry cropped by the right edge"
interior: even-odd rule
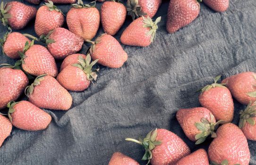
[[[246,122],[250,125],[255,125],[254,117],[256,117],[256,104],[251,106],[252,102],[250,101],[245,110],[241,110],[239,128],[243,128]]]

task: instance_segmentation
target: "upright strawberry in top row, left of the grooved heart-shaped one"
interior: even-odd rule
[[[37,10],[34,31],[38,36],[47,35],[51,30],[61,27],[63,23],[62,12],[49,0],[49,3],[45,3]]]

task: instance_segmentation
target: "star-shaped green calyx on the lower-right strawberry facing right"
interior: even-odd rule
[[[224,123],[224,120],[219,120],[218,122],[213,121],[214,116],[210,113],[210,121],[207,120],[205,117],[201,118],[201,122],[195,123],[196,128],[201,131],[200,133],[196,134],[196,144],[201,144],[205,141],[205,139],[211,135],[212,138],[216,138],[217,135],[214,132],[219,124]]]

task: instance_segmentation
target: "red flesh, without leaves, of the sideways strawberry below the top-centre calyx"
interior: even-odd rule
[[[134,20],[122,33],[121,42],[130,46],[146,47],[151,44],[151,35],[146,35],[150,30],[149,27],[143,27],[143,18],[139,17]]]

